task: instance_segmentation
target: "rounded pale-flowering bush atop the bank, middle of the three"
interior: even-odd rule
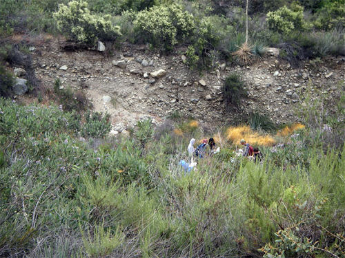
[[[179,41],[188,39],[195,28],[192,14],[182,6],[154,6],[137,14],[135,30],[141,40],[154,46],[163,46],[165,50]]]

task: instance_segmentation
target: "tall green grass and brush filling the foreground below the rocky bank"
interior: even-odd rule
[[[195,121],[175,124],[183,135],[167,127],[159,138],[144,121],[132,137],[95,147],[57,107],[1,99],[0,109],[1,256],[301,255],[276,242],[282,234],[308,244],[306,257],[344,255],[345,153],[319,151],[307,133],[267,144],[262,164],[235,158],[233,142],[213,133],[220,153],[185,172],[179,160],[190,136],[205,137],[199,125],[190,129]],[[229,132],[262,137],[249,127]]]

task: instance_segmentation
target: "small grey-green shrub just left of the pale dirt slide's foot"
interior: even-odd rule
[[[100,113],[87,111],[84,114],[84,118],[86,122],[81,131],[82,136],[103,138],[110,132],[111,123],[109,114],[102,116]]]

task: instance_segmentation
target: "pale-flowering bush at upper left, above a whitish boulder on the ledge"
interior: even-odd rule
[[[86,1],[70,1],[68,6],[61,4],[53,14],[60,32],[73,41],[93,45],[98,40],[114,40],[120,36],[120,28],[113,26],[110,16],[90,14]]]

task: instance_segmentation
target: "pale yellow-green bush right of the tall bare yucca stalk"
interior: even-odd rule
[[[266,17],[270,29],[279,33],[288,34],[294,30],[308,28],[304,21],[303,8],[297,4],[293,5],[292,9],[283,6],[275,12],[268,12]]]

